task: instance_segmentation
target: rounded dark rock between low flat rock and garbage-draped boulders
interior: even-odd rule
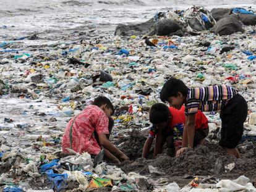
[[[171,19],[161,19],[156,23],[156,35],[169,35],[181,29],[179,24]]]

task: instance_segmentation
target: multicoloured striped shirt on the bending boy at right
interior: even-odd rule
[[[201,111],[220,111],[233,98],[237,91],[228,85],[215,85],[202,88],[191,88],[187,93],[185,114]]]

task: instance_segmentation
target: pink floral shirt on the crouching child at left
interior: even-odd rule
[[[75,119],[75,120],[74,120]],[[72,126],[72,148],[70,147],[70,127]],[[98,106],[87,106],[82,113],[73,117],[64,131],[62,138],[62,150],[66,153],[67,148],[79,152],[88,152],[96,155],[101,151],[100,145],[95,139],[94,131],[100,134],[109,134],[108,116]]]

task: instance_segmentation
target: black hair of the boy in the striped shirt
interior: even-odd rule
[[[188,91],[189,88],[183,83],[182,80],[169,78],[169,80],[164,83],[164,86],[160,92],[160,99],[161,101],[166,102],[168,101],[169,97],[176,97],[178,92],[186,96]]]

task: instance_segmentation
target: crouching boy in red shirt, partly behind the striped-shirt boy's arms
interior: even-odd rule
[[[150,109],[150,122],[153,126],[150,128],[149,136],[144,144],[142,156],[147,158],[153,140],[156,136],[155,151],[153,157],[161,153],[164,141],[168,148],[174,145],[175,154],[182,146],[182,134],[186,122],[185,107],[175,109],[168,107],[163,103],[156,103]],[[194,146],[203,143],[209,132],[207,117],[198,111],[196,115]]]

